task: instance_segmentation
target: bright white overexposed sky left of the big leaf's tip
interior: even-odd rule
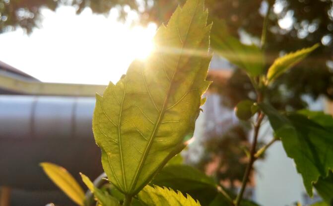
[[[0,61],[46,82],[116,83],[133,59],[149,54],[156,30],[118,22],[114,9],[107,17],[90,8],[76,15],[70,6],[42,15],[42,28],[30,36],[22,30],[0,35]]]

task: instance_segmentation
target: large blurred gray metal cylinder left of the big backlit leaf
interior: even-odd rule
[[[39,166],[44,161],[64,166],[79,183],[79,172],[98,177],[94,105],[94,97],[0,95],[0,186],[58,190]]]

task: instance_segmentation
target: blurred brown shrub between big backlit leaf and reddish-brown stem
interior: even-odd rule
[[[233,191],[242,182],[248,164],[247,151],[250,148],[248,133],[250,127],[239,124],[224,134],[210,132],[204,141],[203,157],[197,168],[212,175],[220,184]],[[258,148],[263,142],[258,142]],[[261,156],[264,158],[264,155]]]

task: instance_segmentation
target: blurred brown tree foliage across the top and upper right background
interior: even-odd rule
[[[72,5],[77,13],[89,7],[94,13],[103,14],[108,14],[115,8],[120,20],[125,20],[130,12],[136,12],[138,20],[134,23],[160,24],[170,17],[177,5],[184,2],[185,0],[0,0],[0,33],[17,27],[25,29],[27,33],[32,32],[41,22],[40,8],[55,10],[60,5]],[[306,107],[300,97],[303,94],[309,94],[313,98],[324,94],[333,99],[332,0],[206,0],[205,5],[211,18],[225,20],[230,35],[239,38],[243,32],[258,43],[267,2],[273,6],[266,36],[266,69],[281,53],[324,43],[311,58],[279,77],[275,83],[279,86],[272,86],[271,89],[271,103],[278,108],[299,109]],[[291,22],[281,28],[285,16]],[[297,84],[293,81],[295,75]],[[229,81],[231,85],[223,88],[227,90],[224,95],[232,94],[230,106],[235,106],[239,100],[254,98],[247,81],[239,81],[241,84],[232,82],[244,80],[246,77],[242,72],[236,71],[232,78]],[[216,84],[221,86],[218,82]],[[233,96],[235,94],[236,97]]]

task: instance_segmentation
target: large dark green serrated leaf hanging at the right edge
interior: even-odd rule
[[[304,186],[312,196],[312,186],[327,177],[333,168],[333,118],[322,112],[302,110],[281,115],[273,107],[260,104],[268,116],[287,155],[294,159]]]

